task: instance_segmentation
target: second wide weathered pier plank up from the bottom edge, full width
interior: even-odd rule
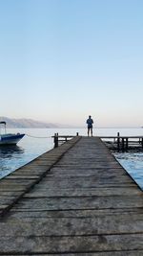
[[[0,237],[91,236],[137,234],[143,230],[143,215],[96,216],[96,218],[33,218],[0,222]]]

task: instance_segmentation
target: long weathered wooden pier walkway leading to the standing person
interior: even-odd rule
[[[0,181],[0,255],[142,256],[143,195],[97,137]]]

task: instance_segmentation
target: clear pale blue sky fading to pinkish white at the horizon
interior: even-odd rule
[[[0,116],[143,126],[142,0],[0,0]]]

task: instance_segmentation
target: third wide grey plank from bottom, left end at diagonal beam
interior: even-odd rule
[[[67,198],[25,198],[15,206],[17,209],[32,210],[70,210],[70,209],[106,209],[142,207],[143,198],[140,196],[118,197],[67,197]]]

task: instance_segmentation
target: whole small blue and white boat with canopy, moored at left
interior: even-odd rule
[[[4,126],[5,133],[2,134],[0,128],[0,146],[1,145],[16,145],[24,136],[25,134],[20,133],[7,133],[6,130],[6,122],[0,122],[0,125]]]

